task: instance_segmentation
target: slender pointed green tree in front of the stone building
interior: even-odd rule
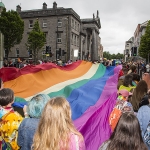
[[[37,62],[39,51],[44,46],[45,41],[46,41],[45,34],[44,32],[41,31],[39,22],[36,21],[33,26],[33,30],[29,33],[28,41],[26,44],[28,50],[32,51],[34,63]]]

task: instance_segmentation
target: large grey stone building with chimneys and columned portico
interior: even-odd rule
[[[11,49],[9,57],[29,57],[29,49],[25,43],[35,21],[38,20],[46,36],[45,45],[39,53],[41,59],[98,60],[98,47],[101,44],[99,42],[101,23],[98,11],[96,17],[93,14],[90,19],[80,19],[72,8],[57,7],[56,2],[53,3],[52,8],[47,8],[47,4],[43,3],[42,9],[27,11],[22,11],[18,5],[16,11],[24,20],[24,33],[21,43]],[[46,46],[50,47],[52,57],[45,55]],[[78,53],[77,56],[74,55],[75,51]]]

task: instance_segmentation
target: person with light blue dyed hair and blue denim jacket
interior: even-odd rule
[[[49,100],[48,95],[38,94],[28,102],[27,106],[24,106],[25,119],[19,126],[17,139],[21,150],[31,150],[35,130],[38,127],[42,111]]]

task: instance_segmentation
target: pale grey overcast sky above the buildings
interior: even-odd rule
[[[41,9],[43,2],[53,7],[52,0],[2,0],[7,10]],[[56,0],[57,7],[73,8],[83,18],[92,18],[99,11],[100,37],[104,51],[123,53],[125,41],[129,40],[139,23],[150,19],[150,0]]]

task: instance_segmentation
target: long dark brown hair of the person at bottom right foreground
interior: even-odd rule
[[[146,150],[138,119],[131,112],[122,113],[110,141],[108,150]]]

